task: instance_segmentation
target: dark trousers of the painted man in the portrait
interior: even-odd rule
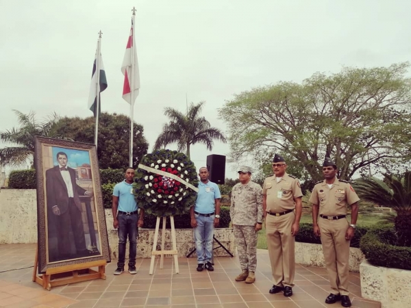
[[[73,257],[85,257],[87,253],[86,238],[84,238],[84,227],[82,212],[75,206],[74,199],[69,198],[69,209],[60,216],[54,215],[57,229],[58,252],[60,259],[71,259]],[[71,255],[70,231],[73,232],[76,255]]]

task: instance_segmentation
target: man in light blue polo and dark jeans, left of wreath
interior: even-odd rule
[[[134,169],[125,170],[125,180],[114,186],[112,196],[113,227],[119,229],[119,261],[115,275],[124,272],[125,264],[125,244],[127,236],[130,242],[129,248],[129,273],[137,274],[136,255],[137,255],[137,236],[138,227],[143,225],[144,209],[140,209],[138,218],[137,203],[133,194]],[[117,209],[119,210],[117,212]]]

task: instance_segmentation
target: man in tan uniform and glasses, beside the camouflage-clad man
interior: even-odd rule
[[[303,194],[298,179],[288,175],[286,168],[284,157],[275,154],[274,175],[265,179],[262,188],[262,207],[274,283],[269,292],[275,294],[284,290],[284,296],[292,296],[294,236],[299,231]]]

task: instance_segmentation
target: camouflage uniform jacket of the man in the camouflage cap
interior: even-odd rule
[[[232,189],[229,211],[233,224],[253,226],[262,222],[262,188],[258,183],[237,183]]]

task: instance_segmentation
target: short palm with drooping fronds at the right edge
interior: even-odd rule
[[[394,225],[398,244],[411,246],[411,172],[405,172],[400,178],[385,174],[384,180],[359,179],[353,186],[363,200],[396,211]]]

